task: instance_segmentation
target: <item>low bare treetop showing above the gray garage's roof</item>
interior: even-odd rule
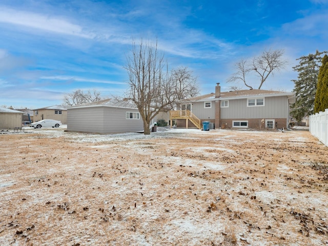
[[[68,106],[93,103],[99,100],[101,100],[100,92],[96,90],[92,92],[88,90],[86,93],[83,90],[76,90],[72,93],[67,93],[63,99],[64,105]]]

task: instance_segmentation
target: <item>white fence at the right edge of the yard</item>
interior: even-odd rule
[[[310,115],[310,132],[317,137],[322,144],[328,146],[328,109]]]

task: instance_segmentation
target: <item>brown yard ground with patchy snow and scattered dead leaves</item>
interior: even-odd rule
[[[309,131],[0,134],[0,245],[327,245]]]

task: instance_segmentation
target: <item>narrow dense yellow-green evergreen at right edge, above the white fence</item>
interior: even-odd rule
[[[328,108],[328,56],[322,58],[319,69],[317,92],[314,100],[314,113]]]

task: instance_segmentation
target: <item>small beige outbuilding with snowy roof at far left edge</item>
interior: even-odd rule
[[[0,108],[0,129],[14,129],[22,127],[23,112]]]

